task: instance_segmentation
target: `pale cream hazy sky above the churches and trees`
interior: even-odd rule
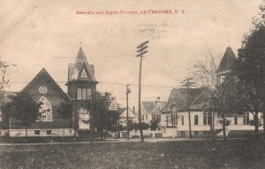
[[[22,90],[45,68],[66,92],[68,63],[74,62],[82,47],[88,62],[95,65],[97,90],[112,92],[125,107],[125,84],[131,84],[129,107],[137,107],[140,58],[135,56],[136,47],[149,40],[142,62],[141,97],[143,101],[156,97],[166,101],[172,87],[178,88],[191,66],[208,51],[222,56],[231,47],[237,55],[262,2],[1,1],[0,59],[17,65],[7,72],[10,84],[6,90]],[[171,10],[172,14],[140,13],[148,10]]]

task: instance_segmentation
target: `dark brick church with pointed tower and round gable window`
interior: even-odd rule
[[[42,116],[27,129],[27,136],[76,136],[80,130],[88,130],[89,122],[84,121],[89,120],[90,114],[82,103],[90,100],[91,94],[96,91],[96,84],[94,65],[87,62],[82,48],[79,48],[75,62],[69,64],[67,93],[43,68],[22,90],[43,103]],[[67,118],[58,112],[62,104],[72,107]],[[3,121],[1,119],[2,123],[4,118]],[[1,136],[26,136],[25,127],[14,120],[7,123],[5,129],[1,129]]]

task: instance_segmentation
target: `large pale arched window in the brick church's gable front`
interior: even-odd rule
[[[49,99],[42,96],[38,101],[42,102],[42,106],[40,108],[40,113],[42,113],[42,116],[38,121],[52,121],[52,107]]]

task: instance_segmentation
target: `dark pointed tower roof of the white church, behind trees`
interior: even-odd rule
[[[235,61],[237,61],[237,57],[231,47],[226,48],[223,58],[216,70],[216,73],[222,73],[224,71],[231,70],[232,65]]]

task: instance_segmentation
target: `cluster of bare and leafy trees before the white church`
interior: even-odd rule
[[[254,125],[255,136],[258,136],[261,126],[258,113],[265,113],[264,5],[260,9],[261,13],[254,18],[250,33],[243,37],[239,57],[232,62],[230,70],[218,74],[216,59],[210,51],[205,61],[196,62],[193,66],[193,76],[208,87],[210,107],[221,115],[224,139],[225,127],[229,124],[226,119],[228,114],[253,114],[254,119],[250,123]],[[263,115],[263,121],[264,118]]]

